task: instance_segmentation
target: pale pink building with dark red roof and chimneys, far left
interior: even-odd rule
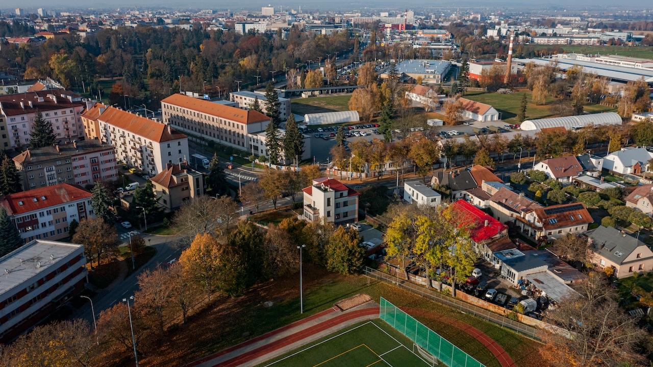
[[[81,97],[65,89],[49,89],[0,95],[1,148],[20,148],[29,144],[29,133],[37,112],[52,123],[59,140],[84,137]]]

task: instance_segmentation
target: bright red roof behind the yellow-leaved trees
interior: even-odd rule
[[[508,227],[500,221],[494,219],[492,215],[483,212],[483,210],[473,206],[465,200],[458,200],[449,205],[447,210],[454,210],[460,217],[456,218],[460,227],[471,225],[471,239],[474,242],[483,242],[504,232]],[[487,225],[485,222],[487,221]]]

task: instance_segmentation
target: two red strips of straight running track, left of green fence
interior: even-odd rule
[[[334,309],[330,308],[327,311],[323,311],[321,313],[317,313],[316,315],[313,315],[311,317],[307,317],[306,319],[302,319],[300,321],[296,321],[295,323],[286,325],[285,327],[278,328],[277,330],[274,330],[272,332],[268,332],[266,334],[263,334],[261,336],[258,336],[257,338],[247,340],[247,342],[240,343],[238,345],[234,345],[233,347],[230,347],[228,349],[225,349],[223,351],[219,351],[218,353],[215,353],[214,355],[210,355],[208,357],[204,357],[200,360],[197,360],[188,366],[197,366],[197,364],[200,364],[202,362],[206,362],[208,360],[215,359],[221,355],[225,355],[226,353],[229,353],[231,351],[234,351],[235,349],[238,349],[240,347],[244,347],[247,344],[257,342],[258,340],[261,340],[263,338],[268,338],[272,335],[279,334],[279,332],[283,332],[284,330],[287,330],[292,327],[296,327],[297,325],[301,325],[303,323],[306,323],[312,319],[315,319],[317,317],[327,315],[328,313],[334,311]],[[364,308],[362,310],[356,310],[356,311],[350,311],[347,313],[343,313],[342,315],[338,315],[330,320],[323,321],[319,324],[313,325],[312,327],[305,328],[304,330],[300,330],[296,332],[295,334],[291,334],[289,336],[285,336],[283,338],[280,338],[279,340],[275,340],[274,342],[270,342],[266,345],[263,345],[261,347],[258,347],[256,349],[252,349],[251,351],[247,351],[246,353],[243,353],[241,355],[238,355],[236,357],[233,357],[232,359],[225,360],[224,362],[220,362],[218,364],[214,364],[214,367],[235,367],[239,366],[240,364],[243,364],[245,362],[249,362],[250,360],[257,359],[259,357],[262,357],[264,355],[267,355],[268,353],[272,353],[273,351],[276,351],[280,348],[286,347],[287,345],[291,345],[292,343],[298,342],[300,340],[303,340],[304,338],[307,338],[308,336],[311,336],[313,334],[317,334],[319,332],[322,332],[324,330],[327,330],[328,328],[332,328],[336,325],[342,324],[345,321],[349,321],[352,319],[357,319],[358,317],[363,317],[363,316],[370,316],[370,315],[378,315],[379,314],[379,308],[374,307],[374,308]]]

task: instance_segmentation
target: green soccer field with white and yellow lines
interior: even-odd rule
[[[339,330],[317,342],[264,362],[259,367],[432,366],[412,351],[413,343],[375,319]],[[436,364],[437,365],[437,364]]]

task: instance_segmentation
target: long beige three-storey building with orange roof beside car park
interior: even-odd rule
[[[161,101],[163,122],[184,133],[251,152],[249,135],[260,133],[270,118],[255,110],[176,93]]]

